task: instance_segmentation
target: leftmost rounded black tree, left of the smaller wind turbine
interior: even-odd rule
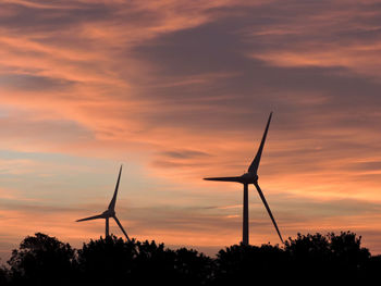
[[[8,261],[15,285],[67,285],[72,278],[74,250],[56,237],[27,236]]]

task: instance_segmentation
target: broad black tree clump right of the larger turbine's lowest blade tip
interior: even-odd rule
[[[330,281],[354,282],[364,278],[369,250],[360,247],[361,237],[351,232],[340,235],[329,233],[321,235],[297,235],[296,239],[288,238],[285,252],[290,263],[300,272],[295,276],[298,281],[315,282]]]

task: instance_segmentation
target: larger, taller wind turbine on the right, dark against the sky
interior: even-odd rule
[[[263,146],[265,146],[265,141],[266,141],[266,136],[267,136],[267,133],[268,133],[269,126],[270,126],[271,116],[272,116],[272,112],[270,113],[269,120],[267,122],[266,129],[265,129],[263,137],[262,137],[262,141],[260,142],[258,152],[257,152],[256,157],[254,158],[250,166],[248,167],[247,173],[243,174],[242,176],[236,176],[236,177],[207,177],[207,178],[204,178],[207,181],[235,182],[235,183],[241,183],[244,185],[244,212],[243,212],[244,222],[243,222],[243,237],[242,237],[242,243],[244,245],[248,245],[248,185],[249,184],[254,184],[254,186],[257,188],[259,197],[261,198],[261,200],[262,200],[262,202],[263,202],[263,204],[265,204],[265,207],[270,215],[270,219],[271,219],[273,225],[275,226],[279,238],[281,238],[281,241],[283,244],[283,238],[282,238],[282,235],[281,235],[279,228],[278,228],[274,216],[272,215],[270,207],[265,199],[263,192],[258,185],[258,174],[257,174],[258,167],[259,167],[259,162],[260,162],[260,157],[262,154],[262,150],[263,150]]]

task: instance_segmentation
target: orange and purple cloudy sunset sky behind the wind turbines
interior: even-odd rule
[[[283,237],[353,231],[381,253],[379,1],[0,0],[0,263],[26,235],[209,254],[242,239],[242,185]],[[279,244],[254,186],[250,244]],[[114,222],[110,229],[121,236]]]

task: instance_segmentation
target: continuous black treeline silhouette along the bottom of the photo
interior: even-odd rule
[[[0,268],[0,285],[366,285],[379,281],[381,257],[372,257],[360,243],[351,232],[298,234],[283,247],[235,245],[210,258],[115,236],[76,250],[37,233]]]

